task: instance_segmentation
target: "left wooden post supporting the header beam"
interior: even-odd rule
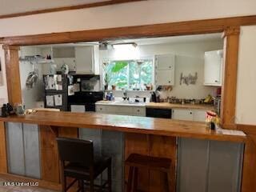
[[[22,103],[22,89],[19,74],[18,46],[2,46],[5,52],[8,100],[11,105]]]

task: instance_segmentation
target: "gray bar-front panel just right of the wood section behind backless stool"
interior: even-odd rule
[[[205,192],[208,166],[206,140],[178,140],[178,191]]]

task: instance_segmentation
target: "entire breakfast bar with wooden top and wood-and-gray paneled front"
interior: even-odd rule
[[[0,177],[2,178],[19,181],[32,179],[28,176],[20,177],[10,174],[10,163],[8,163],[10,157],[7,157],[8,150],[6,150],[10,145],[10,139],[6,139],[6,135],[10,134],[8,123],[19,123],[23,131],[27,125],[38,126],[38,149],[40,150],[38,162],[40,162],[41,174],[37,179],[33,179],[38,181],[40,186],[50,189],[61,189],[55,138],[87,139],[92,135],[97,146],[98,138],[91,133],[99,133],[99,137],[102,138],[101,146],[98,147],[101,149],[99,153],[110,154],[114,158],[113,171],[116,175],[113,178],[113,191],[124,191],[124,182],[117,178],[122,178],[122,175],[127,178],[127,171],[122,168],[123,160],[131,153],[171,158],[173,192],[188,191],[187,186],[194,187],[191,191],[198,192],[204,191],[206,187],[214,189],[216,186],[214,182],[222,183],[223,179],[227,181],[224,186],[220,186],[223,191],[234,185],[239,188],[241,184],[242,156],[246,136],[220,134],[208,129],[202,122],[57,111],[38,111],[25,116],[13,115],[0,118],[0,138],[2,138],[0,141]],[[15,132],[15,128],[13,131]],[[28,142],[30,142],[29,139]],[[218,160],[220,157],[222,162]],[[214,166],[225,168],[226,165],[229,167],[228,174],[224,174],[219,179],[219,173],[214,170]],[[191,174],[190,177],[188,177],[188,171]],[[148,170],[139,170],[138,174],[140,190],[164,191],[166,180],[163,174]]]

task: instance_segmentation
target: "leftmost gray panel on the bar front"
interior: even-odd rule
[[[25,175],[22,123],[6,122],[8,173]]]

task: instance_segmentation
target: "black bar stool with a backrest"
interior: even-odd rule
[[[107,181],[99,187],[111,191],[111,158],[94,157],[92,141],[77,138],[56,138],[56,140],[62,169],[62,192],[69,190],[77,181],[78,191],[84,192],[84,181],[86,181],[89,182],[90,192],[93,192],[96,186],[94,179],[106,169]],[[66,177],[75,178],[69,186],[66,186]]]

